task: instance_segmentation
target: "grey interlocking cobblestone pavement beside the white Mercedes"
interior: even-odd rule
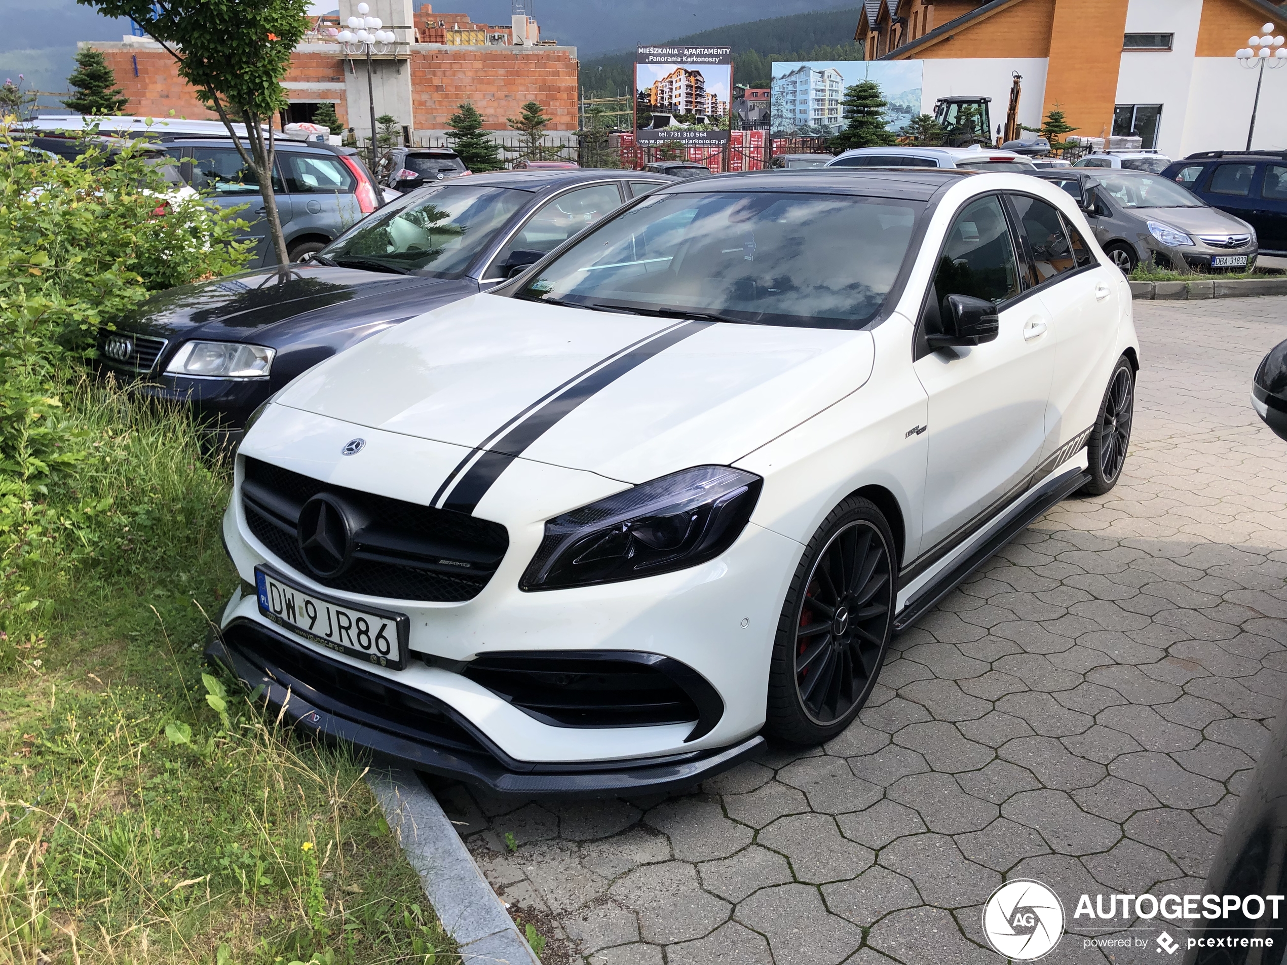
[[[1287,444],[1248,403],[1287,299],[1135,313],[1124,480],[897,638],[825,748],[669,798],[436,787],[547,965],[995,965],[981,907],[1010,878],[1053,887],[1080,933],[1045,961],[1156,965],[1161,923],[1109,959],[1072,914],[1082,893],[1201,890],[1287,690]]]

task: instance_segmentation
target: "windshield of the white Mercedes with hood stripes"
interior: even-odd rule
[[[517,297],[609,311],[861,328],[911,241],[919,201],[653,196],[587,233]]]

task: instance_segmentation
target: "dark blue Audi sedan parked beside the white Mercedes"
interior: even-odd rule
[[[153,295],[99,333],[99,365],[147,395],[189,403],[236,443],[265,399],[323,359],[499,284],[674,180],[583,169],[421,188],[301,262]]]

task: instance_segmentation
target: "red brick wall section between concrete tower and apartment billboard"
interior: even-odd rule
[[[570,50],[448,48],[417,50],[411,62],[412,113],[417,130],[441,130],[465,100],[489,130],[506,130],[528,100],[546,108],[550,130],[577,130],[577,60]]]

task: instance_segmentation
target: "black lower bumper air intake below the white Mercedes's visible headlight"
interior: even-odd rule
[[[506,652],[483,655],[462,670],[475,683],[542,723],[555,727],[649,727],[696,721],[694,694],[705,700],[713,688],[690,685],[686,691],[667,673],[678,661],[655,654],[613,651]],[[722,713],[719,706],[716,718]]]

